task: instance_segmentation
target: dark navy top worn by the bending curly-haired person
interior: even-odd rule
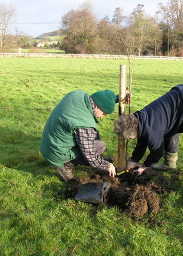
[[[136,111],[139,138],[131,159],[139,162],[150,150],[145,166],[158,163],[164,152],[164,141],[183,132],[183,84],[171,88],[145,108]]]

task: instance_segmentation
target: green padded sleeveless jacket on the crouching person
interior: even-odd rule
[[[82,156],[74,130],[92,127],[98,131],[89,95],[76,90],[68,93],[52,110],[40,143],[40,152],[46,161],[63,167],[63,162]]]

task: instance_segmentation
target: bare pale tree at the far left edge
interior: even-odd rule
[[[1,51],[4,51],[5,46],[6,49],[9,45],[9,38],[8,38],[8,25],[10,21],[15,17],[15,6],[12,4],[0,4],[0,26],[1,26],[1,35],[0,35],[0,47]]]

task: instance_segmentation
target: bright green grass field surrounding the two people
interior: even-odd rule
[[[69,191],[39,152],[45,122],[60,99],[77,89],[91,94],[105,89],[118,93],[119,68],[128,62],[76,58],[0,61],[0,255],[182,256],[182,134],[179,180],[169,184],[172,193],[159,195],[161,211],[139,220],[132,220],[118,207],[76,202],[72,189]],[[182,61],[131,63],[131,113],[182,83]],[[111,116],[100,120],[106,156],[117,154],[116,118],[118,106]],[[129,154],[135,143],[129,141]],[[87,170],[77,166],[76,175],[88,175]],[[164,175],[171,180],[173,172]]]

